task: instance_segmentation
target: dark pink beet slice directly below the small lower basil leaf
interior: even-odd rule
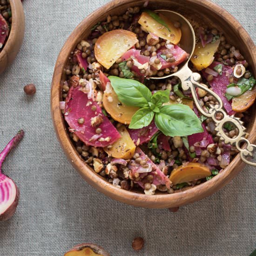
[[[148,126],[141,129],[128,129],[128,133],[134,141],[135,145],[150,141],[151,137],[158,131],[155,122],[152,121]]]

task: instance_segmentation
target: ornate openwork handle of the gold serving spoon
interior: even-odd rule
[[[234,117],[234,115],[229,116],[226,111],[223,109],[223,102],[221,98],[214,93],[212,90],[210,90],[206,85],[199,83],[201,79],[201,75],[198,73],[192,73],[190,76],[190,81],[186,82],[186,88],[191,89],[191,93],[193,96],[193,99],[195,101],[195,105],[197,109],[202,113],[202,115],[205,115],[207,117],[211,117],[213,121],[216,123],[216,132],[217,136],[220,137],[220,140],[224,141],[226,144],[235,145],[236,148],[240,151],[240,156],[243,162],[256,166],[256,163],[251,162],[249,158],[251,159],[253,157],[253,151],[256,149],[256,145],[251,144],[245,137],[245,128],[243,126],[243,121],[240,120],[240,118]],[[209,111],[206,111],[202,108],[200,101],[197,98],[197,94],[195,91],[195,88],[201,88],[205,91],[207,91],[210,95],[216,98],[216,101],[219,103],[218,105],[209,105]],[[218,113],[221,113],[221,118],[216,118],[216,115]],[[219,116],[219,115],[218,115]],[[226,122],[232,123],[236,128],[238,129],[239,133],[236,137],[230,138],[228,135],[225,134],[223,131],[223,126]],[[243,143],[245,145],[243,145]],[[243,148],[242,148],[243,146]]]

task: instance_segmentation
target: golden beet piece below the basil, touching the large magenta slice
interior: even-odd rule
[[[115,143],[111,145],[111,148],[108,146],[103,149],[109,156],[125,160],[131,159],[134,155],[136,146],[124,125],[121,125],[117,130],[120,133],[121,138],[115,141]]]

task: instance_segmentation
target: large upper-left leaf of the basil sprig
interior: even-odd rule
[[[140,108],[148,107],[152,93],[144,84],[117,76],[109,76],[108,79],[123,104]]]

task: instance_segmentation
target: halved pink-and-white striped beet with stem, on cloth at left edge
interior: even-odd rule
[[[1,167],[9,152],[23,136],[24,131],[20,130],[0,153],[0,221],[11,218],[19,203],[20,191],[13,180],[2,173]]]

